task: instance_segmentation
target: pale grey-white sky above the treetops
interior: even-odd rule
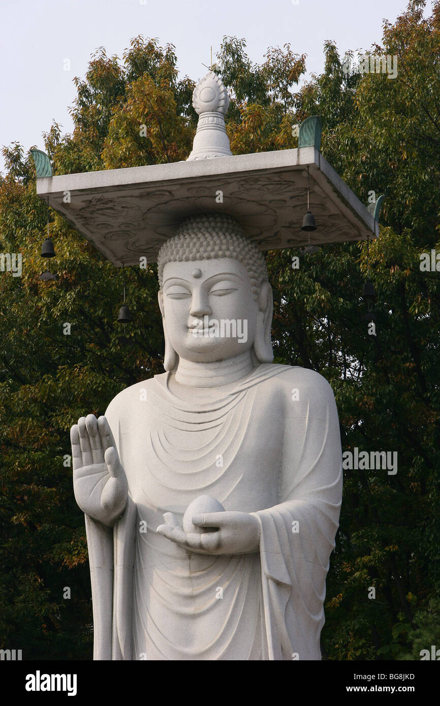
[[[297,4],[296,4],[297,3]],[[323,42],[369,49],[381,42],[407,0],[0,0],[0,145],[18,140],[44,150],[52,119],[72,130],[67,108],[76,97],[90,54],[105,47],[122,57],[132,37],[175,44],[179,74],[198,80],[224,35],[245,37],[247,54],[261,63],[270,46],[290,42],[307,54],[308,73],[323,70]],[[431,4],[426,13],[430,13]],[[66,59],[71,70],[65,71]],[[4,168],[0,155],[0,170]]]

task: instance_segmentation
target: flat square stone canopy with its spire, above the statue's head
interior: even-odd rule
[[[201,90],[203,82],[208,87]],[[141,257],[155,262],[184,217],[202,213],[234,217],[262,250],[378,237],[379,222],[313,140],[294,150],[228,156],[228,104],[221,80],[210,72],[194,91],[199,122],[189,160],[42,176],[37,195],[118,267],[138,265]],[[301,230],[308,171],[317,227],[309,233]]]

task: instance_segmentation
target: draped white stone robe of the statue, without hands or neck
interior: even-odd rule
[[[94,659],[321,659],[342,453],[330,385],[261,364],[215,399],[170,373],[123,390],[105,416],[129,483],[109,529],[85,517]],[[203,494],[252,513],[259,551],[203,556],[155,530]]]

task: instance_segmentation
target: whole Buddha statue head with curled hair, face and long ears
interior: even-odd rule
[[[157,258],[165,334],[164,367],[179,358],[213,363],[250,351],[273,360],[273,297],[261,251],[227,215],[182,222]]]

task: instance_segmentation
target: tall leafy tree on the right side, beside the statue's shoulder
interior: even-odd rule
[[[298,278],[290,297],[282,289],[297,360],[324,369],[335,390],[343,448],[398,452],[396,476],[345,476],[323,633],[333,659],[401,654],[415,635],[415,606],[423,610],[439,588],[439,274],[420,270],[420,253],[440,250],[440,4],[426,20],[423,8],[411,2],[395,25],[385,23],[383,46],[371,52],[398,57],[396,80],[344,75],[328,42],[325,72],[297,103],[301,116],[323,116],[323,154],[357,196],[385,194],[381,234],[369,244],[376,337],[359,321],[355,273],[359,262],[367,276],[366,244],[321,249],[306,281]]]

